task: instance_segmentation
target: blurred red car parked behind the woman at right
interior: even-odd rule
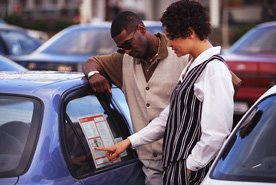
[[[235,97],[237,122],[261,94],[276,84],[276,21],[252,28],[223,57],[242,79]]]

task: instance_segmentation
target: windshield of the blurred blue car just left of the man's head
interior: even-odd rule
[[[43,52],[52,54],[110,54],[116,45],[110,36],[110,28],[80,27],[64,32]]]

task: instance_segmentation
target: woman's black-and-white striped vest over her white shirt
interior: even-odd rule
[[[202,102],[194,95],[194,84],[213,56],[194,67],[178,83],[170,99],[170,113],[164,133],[163,166],[186,159],[201,137]]]

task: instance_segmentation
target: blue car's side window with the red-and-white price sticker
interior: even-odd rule
[[[136,158],[136,153],[128,149],[118,160],[109,162],[105,152],[94,150],[95,146],[112,145],[130,135],[120,108],[106,94],[70,97],[65,106],[63,135],[69,169],[76,178]]]

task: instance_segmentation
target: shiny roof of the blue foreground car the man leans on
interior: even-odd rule
[[[80,72],[0,72],[0,93],[49,97],[84,84],[88,82]]]

